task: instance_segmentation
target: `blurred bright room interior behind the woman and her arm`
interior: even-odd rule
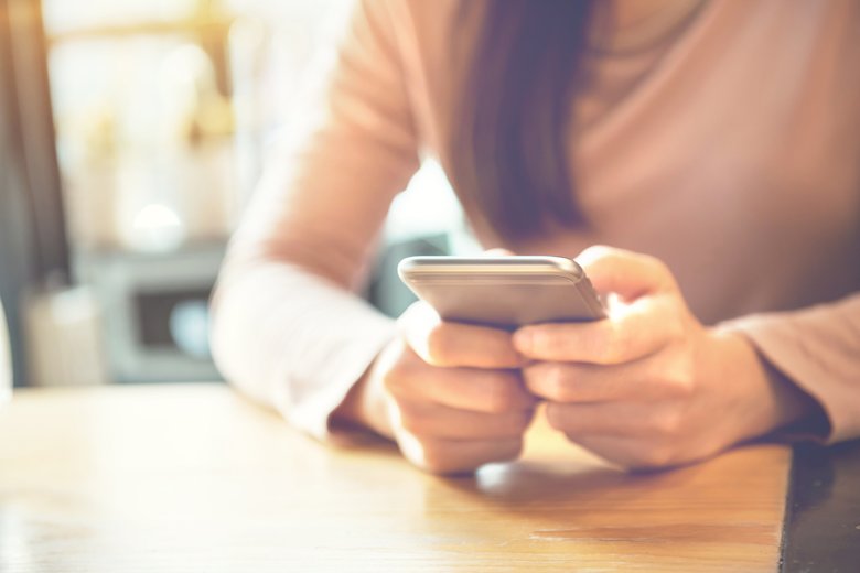
[[[221,259],[351,4],[0,0],[0,346],[15,386],[219,378],[206,303]],[[391,315],[411,301],[401,257],[475,250],[432,160],[385,236],[366,296]]]

